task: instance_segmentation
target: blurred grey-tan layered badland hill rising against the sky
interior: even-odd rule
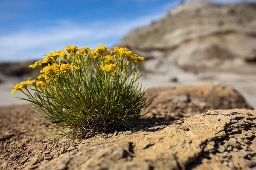
[[[180,3],[116,45],[186,71],[225,70],[248,61],[244,56],[256,56],[256,3]]]

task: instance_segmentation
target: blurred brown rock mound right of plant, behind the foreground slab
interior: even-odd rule
[[[148,123],[152,122],[152,126],[156,122],[157,125],[166,125],[181,117],[206,112],[212,108],[253,108],[238,91],[215,83],[150,88],[148,93],[151,93],[149,98],[153,99],[153,102],[142,110],[142,114],[149,110],[142,118]],[[140,121],[140,124],[143,122]]]

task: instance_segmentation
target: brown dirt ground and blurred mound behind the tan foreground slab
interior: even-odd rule
[[[171,125],[176,120],[189,117],[210,109],[231,109],[252,107],[233,88],[212,83],[190,86],[173,86],[152,88],[154,99],[149,113],[134,123],[131,131],[159,130],[164,125]],[[10,105],[0,108],[0,169],[36,169],[40,165],[59,157],[61,154],[75,150],[77,145],[87,139],[63,139],[42,142],[56,136],[46,135],[52,130],[39,127],[51,127],[38,113],[32,111],[32,105]],[[116,131],[115,133],[125,133]],[[113,136],[100,134],[99,136]],[[40,155],[40,156],[39,156]],[[60,168],[61,169],[61,168]],[[65,169],[65,168],[64,168]]]

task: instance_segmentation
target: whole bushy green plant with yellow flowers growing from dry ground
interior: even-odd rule
[[[127,127],[142,116],[141,109],[151,103],[137,82],[144,57],[128,48],[114,47],[112,51],[102,44],[94,50],[76,45],[64,49],[51,51],[30,65],[41,69],[38,77],[28,78],[12,90],[28,97],[18,99],[41,108],[43,119],[58,122],[51,124],[61,133],[51,134],[88,137]],[[106,52],[116,54],[104,55]],[[42,67],[43,63],[48,65]]]

